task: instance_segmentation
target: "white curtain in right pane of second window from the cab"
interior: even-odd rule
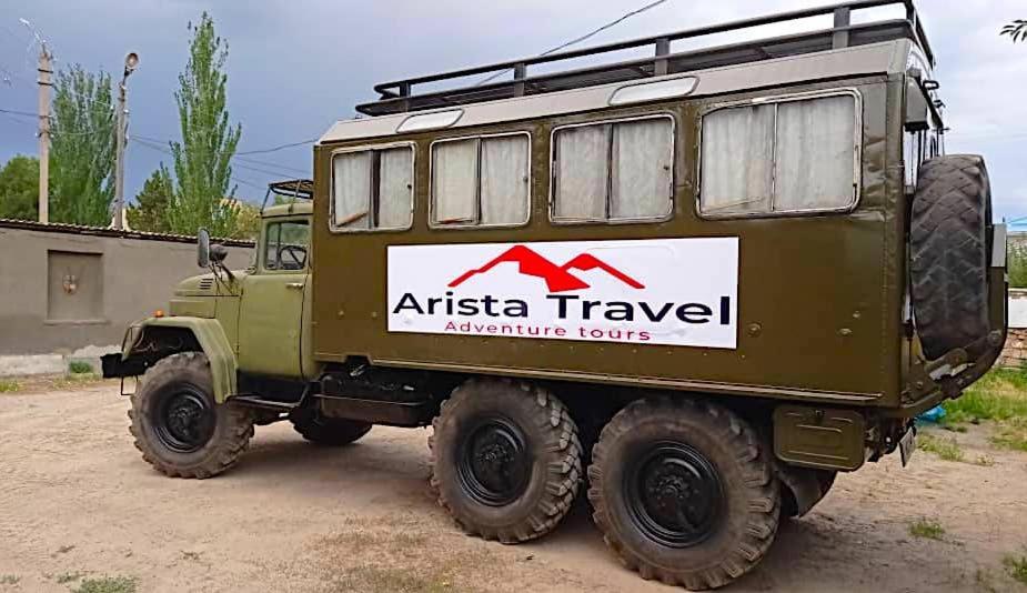
[[[528,154],[525,135],[482,140],[482,224],[520,224],[527,221]]]

